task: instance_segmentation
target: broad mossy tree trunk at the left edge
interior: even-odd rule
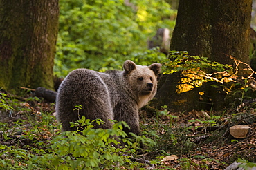
[[[53,89],[58,0],[0,0],[0,87]]]

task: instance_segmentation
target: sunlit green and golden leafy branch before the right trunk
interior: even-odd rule
[[[170,51],[169,59],[163,65],[164,74],[181,72],[177,93],[188,92],[208,81],[225,83],[234,81],[236,72],[232,66],[210,61],[204,56],[191,56],[185,51]]]

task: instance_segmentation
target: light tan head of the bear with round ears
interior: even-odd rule
[[[156,94],[158,76],[161,64],[149,66],[136,65],[133,61],[125,61],[124,86],[127,93],[136,100],[138,107],[143,107]]]

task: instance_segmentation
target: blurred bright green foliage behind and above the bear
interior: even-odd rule
[[[158,28],[172,30],[175,14],[163,0],[61,0],[54,72],[121,69],[125,59],[140,61],[141,54],[156,53],[147,62],[157,62],[161,54],[147,51],[147,41]]]

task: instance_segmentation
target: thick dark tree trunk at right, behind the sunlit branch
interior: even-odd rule
[[[170,50],[188,51],[190,55],[229,65],[234,65],[229,55],[249,63],[251,4],[252,0],[180,0]],[[163,76],[156,94],[158,106],[167,105],[173,111],[223,107],[225,94],[210,85],[177,94],[182,91],[177,89],[182,87],[177,86],[181,74]],[[199,100],[202,89],[210,100]]]

